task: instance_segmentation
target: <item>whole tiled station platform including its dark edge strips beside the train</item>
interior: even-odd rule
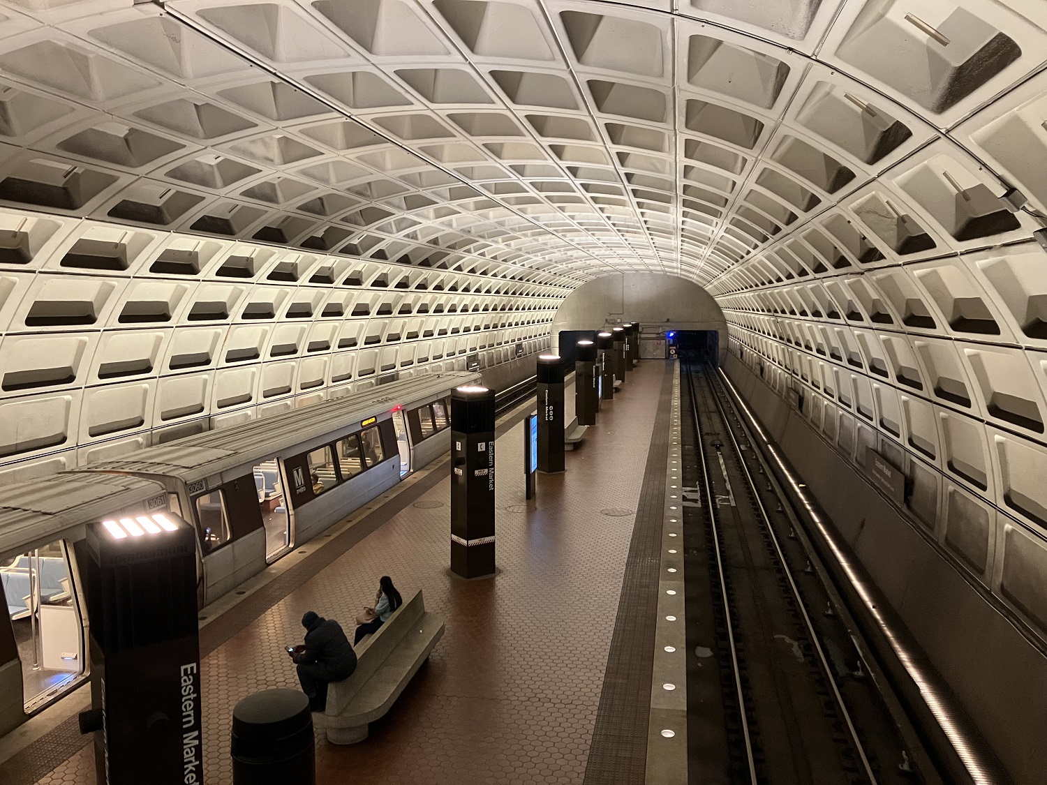
[[[205,782],[232,781],[236,703],[297,689],[284,647],[300,643],[303,613],[352,636],[382,575],[404,597],[422,589],[446,633],[364,742],[335,746],[317,733],[318,783],[643,782],[673,367],[639,363],[567,453],[567,471],[538,475],[531,501],[520,423],[533,400],[503,417],[493,578],[449,573],[445,457],[205,608]],[[569,390],[567,421],[573,406]],[[0,782],[93,785],[93,748],[69,711],[86,692],[65,699],[64,719],[61,704],[48,710],[45,732],[30,723],[23,733],[37,738],[14,754],[0,746]]]

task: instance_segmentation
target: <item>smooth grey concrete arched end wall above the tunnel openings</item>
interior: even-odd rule
[[[693,281],[663,273],[623,272],[585,282],[553,316],[551,342],[558,345],[561,330],[595,330],[619,321],[647,329],[715,330],[720,362],[727,359],[727,320],[716,300]]]

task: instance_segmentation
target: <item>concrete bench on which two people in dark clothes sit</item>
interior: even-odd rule
[[[443,634],[443,621],[426,612],[418,590],[361,641],[353,675],[328,686],[328,741],[356,744],[367,738],[367,723],[392,708]]]

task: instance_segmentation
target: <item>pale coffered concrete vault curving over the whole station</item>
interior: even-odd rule
[[[667,274],[1043,646],[1041,0],[3,5],[0,481],[498,365]]]

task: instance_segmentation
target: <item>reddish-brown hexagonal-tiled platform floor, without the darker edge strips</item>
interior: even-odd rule
[[[338,747],[317,735],[317,781],[581,783],[666,369],[638,365],[567,454],[567,472],[539,475],[536,503],[524,499],[522,428],[498,439],[495,578],[448,575],[443,479],[419,499],[440,507],[407,507],[207,654],[208,785],[231,782],[237,701],[297,687],[283,647],[300,640],[302,614],[315,609],[351,627],[385,574],[404,595],[423,589],[446,634],[365,742]],[[39,782],[93,784],[91,747]]]

